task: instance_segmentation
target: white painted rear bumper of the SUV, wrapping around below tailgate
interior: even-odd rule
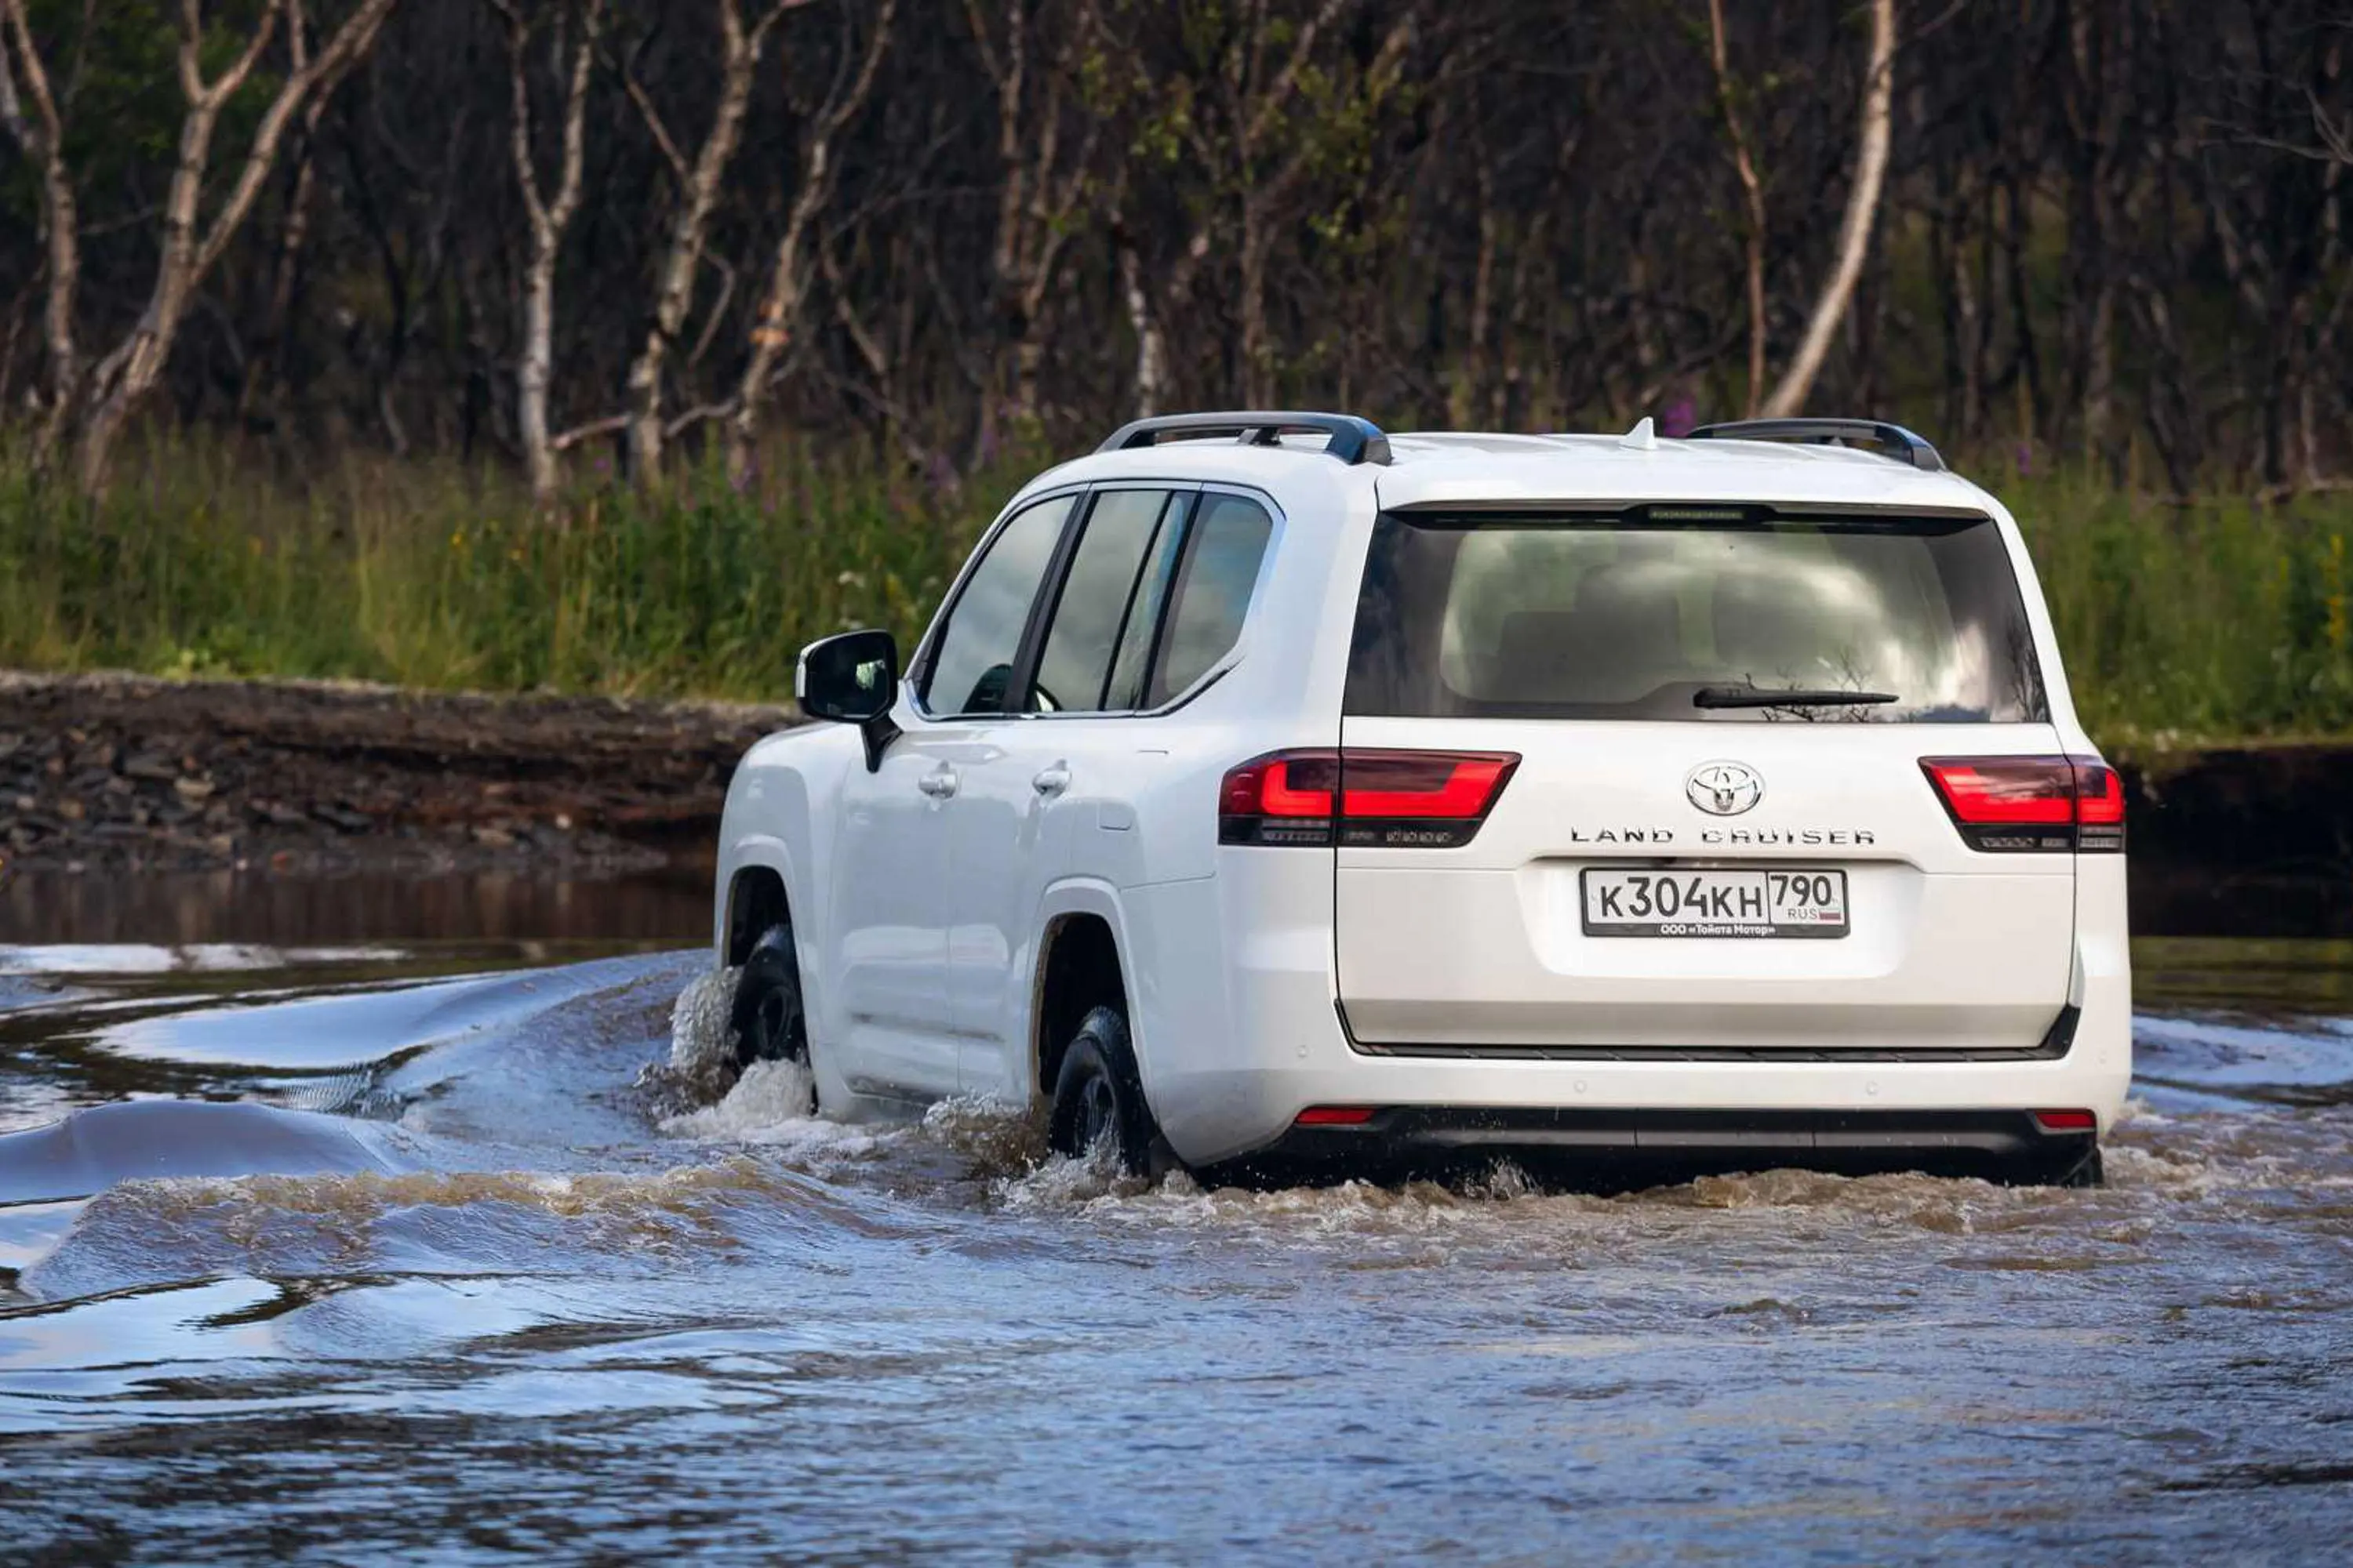
[[[2052,1037],[1986,1060],[1953,1051],[1946,1039],[1875,1041],[1875,1051],[1795,1046],[1586,1058],[1551,1051],[1464,1056],[1457,1046],[1445,1056],[1372,1056],[1341,1027],[1332,877],[1329,870],[1306,875],[1318,870],[1306,860],[1268,851],[1214,879],[1127,893],[1129,1023],[1144,1091],[1176,1157],[1191,1166],[1221,1168],[1287,1152],[1292,1124],[1311,1105],[1419,1107],[1473,1124],[1489,1114],[1600,1117],[1586,1121],[1600,1128],[1612,1126],[1612,1114],[1737,1112],[1812,1117],[1817,1126],[1821,1119],[1897,1117],[1868,1126],[1901,1145],[1906,1128],[1939,1126],[1918,1119],[1929,1114],[2089,1110],[2108,1128],[2132,1084],[2122,865],[2099,882],[2087,877],[2082,889],[2089,907],[2068,985],[2073,1039]],[[1767,1121],[1767,1131],[1772,1126],[1779,1124]],[[1906,1147],[1937,1152],[1944,1145],[1939,1131]],[[1360,1159],[1377,1152],[1377,1140],[1329,1150]],[[1828,1164],[1821,1157],[1819,1138],[1784,1140],[1772,1150],[1746,1145],[1739,1164]]]

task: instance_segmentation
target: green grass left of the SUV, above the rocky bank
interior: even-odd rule
[[[812,637],[911,639],[1028,470],[944,491],[776,447],[744,487],[713,465],[539,515],[504,473],[435,463],[296,484],[165,447],[99,508],[0,463],[0,665],[776,698]]]

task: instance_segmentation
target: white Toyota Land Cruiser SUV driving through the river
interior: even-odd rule
[[[1132,1168],[2099,1180],[2122,790],[1908,430],[1127,425],[744,759],[741,1056]]]

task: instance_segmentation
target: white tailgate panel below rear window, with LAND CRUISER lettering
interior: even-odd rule
[[[1471,844],[1339,849],[1339,990],[1360,1041],[2031,1048],[2066,1001],[2073,856],[1969,849],[1920,771],[1927,750],[2054,752],[2047,724],[1922,745],[1868,724],[1351,717],[1344,743],[1520,755]],[[1762,780],[1755,806],[1692,804],[1689,778],[1715,762]],[[1838,872],[1845,933],[1588,936],[1584,875],[1600,867],[1675,872],[1657,898],[1675,912],[1687,872]],[[1701,882],[1715,898],[1748,886]]]

